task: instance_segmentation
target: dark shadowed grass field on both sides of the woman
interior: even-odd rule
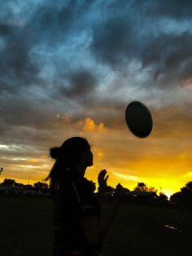
[[[49,198],[0,196],[0,255],[50,256],[53,205]],[[109,205],[104,205],[105,212]],[[103,240],[106,256],[192,255],[192,212],[121,205]]]

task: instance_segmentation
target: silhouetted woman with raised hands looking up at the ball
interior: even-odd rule
[[[55,203],[54,256],[102,255],[102,239],[111,226],[124,190],[119,187],[107,214],[100,216],[103,194],[107,188],[107,172],[98,174],[98,195],[85,179],[85,170],[93,166],[89,143],[81,137],[67,139],[61,147],[50,148],[55,164],[50,179],[50,193]]]

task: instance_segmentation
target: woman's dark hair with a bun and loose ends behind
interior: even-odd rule
[[[89,148],[88,141],[81,137],[72,137],[65,140],[61,147],[50,148],[50,157],[55,159],[55,164],[45,181],[50,179],[52,196],[61,187],[68,170],[70,171],[81,160],[81,152],[86,152]]]

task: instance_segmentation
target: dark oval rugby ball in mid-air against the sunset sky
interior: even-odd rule
[[[125,119],[133,135],[146,138],[151,134],[153,128],[151,113],[141,102],[133,101],[127,106]]]

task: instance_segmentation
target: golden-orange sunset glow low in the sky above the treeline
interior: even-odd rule
[[[154,187],[158,193],[161,191],[170,196],[192,180],[192,146],[189,139],[190,126],[186,124],[184,130],[184,125],[175,126],[172,121],[167,125],[168,113],[174,117],[176,115],[173,109],[164,110],[162,121],[163,114],[154,113],[155,120],[161,123],[155,122],[151,135],[146,139],[134,137],[125,124],[119,130],[109,129],[103,122],[96,124],[94,119],[87,117],[76,122],[72,128],[68,121],[64,118],[62,120],[68,128],[72,128],[68,129],[70,135],[67,138],[80,135],[87,138],[91,145],[94,166],[86,170],[87,179],[97,183],[99,171],[106,169],[109,174],[107,183],[114,188],[117,183],[121,183],[125,188],[133,190],[137,183],[142,182],[148,188]],[[63,141],[63,135],[59,141]],[[42,181],[54,163],[48,157],[48,151],[49,148],[45,148],[39,158],[13,158],[9,169],[5,168],[2,172],[1,182],[8,178],[28,183],[28,175],[33,171],[36,173],[31,175],[30,183]]]

